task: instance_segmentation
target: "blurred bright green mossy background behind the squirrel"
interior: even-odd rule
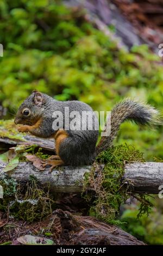
[[[131,97],[163,113],[161,58],[147,45],[134,46],[130,52],[118,49],[84,14],[85,10],[66,8],[62,1],[0,0],[4,47],[0,102],[7,108],[5,119],[12,118],[34,89],[58,100],[84,101],[95,111],[109,111],[116,102]],[[121,126],[115,144],[135,145],[147,161],[154,161],[154,157],[162,158],[162,131],[162,127],[142,129],[128,122]],[[144,217],[147,221],[137,221],[135,211],[124,212],[122,217],[130,224],[123,228],[138,237],[142,232],[141,239],[148,243],[163,244],[162,208],[155,206],[154,217]],[[158,212],[161,217],[156,222]],[[154,227],[147,224],[151,219]],[[148,230],[156,234],[155,239],[148,237]]]

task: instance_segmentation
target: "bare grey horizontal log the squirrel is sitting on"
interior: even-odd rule
[[[6,163],[0,163],[0,172]],[[31,162],[20,162],[9,175],[18,181],[28,181],[34,175],[42,186],[50,185],[52,192],[78,193],[82,191],[83,179],[91,166],[84,167],[59,167],[52,173],[49,168],[38,170]],[[133,192],[158,194],[159,186],[163,185],[163,163],[132,163],[126,164],[122,182],[131,184]]]

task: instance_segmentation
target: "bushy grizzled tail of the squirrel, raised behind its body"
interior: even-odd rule
[[[101,138],[96,147],[96,155],[111,147],[120,125],[126,120],[133,120],[141,125],[160,123],[159,112],[155,108],[126,99],[112,109],[110,135]]]

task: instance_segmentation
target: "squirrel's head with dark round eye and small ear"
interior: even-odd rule
[[[43,94],[34,91],[18,108],[15,124],[34,125],[42,117],[43,103]]]

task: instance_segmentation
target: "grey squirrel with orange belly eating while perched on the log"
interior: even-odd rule
[[[55,120],[53,113],[60,111],[65,118],[65,107],[68,107],[70,112],[78,111],[81,115],[83,111],[94,113],[92,108],[84,102],[75,100],[58,101],[51,96],[34,90],[18,108],[15,117],[15,124],[21,124],[18,127],[19,132],[30,132],[35,136],[55,139],[57,155],[49,157],[42,164],[44,167],[51,166],[50,172],[54,167],[61,165],[82,166],[92,164],[99,153],[111,147],[123,121],[130,119],[135,123],[146,125],[155,123],[158,117],[158,111],[151,106],[130,99],[123,100],[111,111],[110,134],[103,136],[97,144],[99,131],[95,129],[95,124],[98,122],[95,116],[92,130],[87,128],[85,130],[66,130],[64,121],[62,127],[60,125],[53,127],[53,121]],[[77,123],[80,124],[81,122],[78,118]],[[84,122],[87,125],[87,121],[84,120]]]

